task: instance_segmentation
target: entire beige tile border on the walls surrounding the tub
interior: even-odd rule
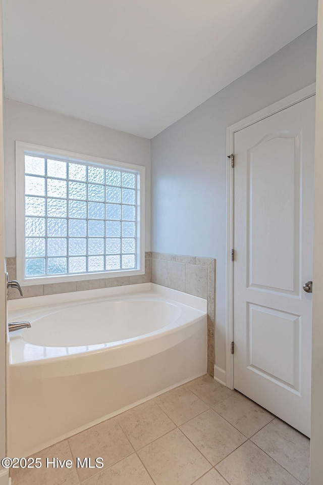
[[[9,279],[17,279],[16,258],[6,258]],[[198,256],[167,253],[145,253],[145,274],[116,278],[89,279],[62,283],[23,286],[24,298],[109,288],[136,283],[153,283],[207,299],[207,373],[214,373],[214,302],[216,260]],[[10,288],[9,300],[21,298]]]

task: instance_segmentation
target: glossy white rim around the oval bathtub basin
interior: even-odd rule
[[[102,292],[101,290],[107,290]],[[110,347],[105,347],[101,349],[88,350],[68,355],[60,355],[49,358],[40,358],[35,360],[17,360],[12,362],[12,345],[15,345],[15,340],[12,343],[8,342],[8,372],[16,372],[19,370],[27,370],[29,368],[30,372],[33,373],[33,377],[44,376],[47,377],[59,377],[63,375],[71,374],[83,374],[89,371],[99,371],[106,368],[119,367],[120,365],[127,365],[131,362],[137,360],[142,360],[143,358],[151,357],[156,353],[163,352],[168,348],[174,347],[186,338],[190,337],[198,331],[201,325],[205,324],[207,321],[207,301],[199,297],[184,294],[173,290],[171,288],[166,288],[164,286],[156,285],[155,283],[139,283],[136,285],[127,285],[118,288],[100,288],[100,290],[85,290],[87,297],[85,300],[82,298],[82,303],[102,301],[106,297],[111,301],[115,301],[118,296],[123,296],[126,298],[129,296],[131,299],[135,299],[136,296],[154,296],[161,297],[161,299],[170,301],[171,303],[177,303],[186,309],[186,313],[191,310],[197,310],[194,312],[194,318],[189,318],[185,316],[184,311],[184,321],[180,324],[177,323],[178,320],[183,320],[183,315],[172,322],[171,324],[158,329],[156,331],[146,333],[138,336],[137,338],[131,338],[126,342],[118,341],[113,343]],[[26,308],[28,310],[38,301],[35,299],[41,299],[41,307],[46,307],[57,302],[57,300],[63,300],[63,306],[67,304],[69,307],[75,305],[80,298],[73,299],[75,296],[72,294],[59,294],[59,295],[46,295],[45,297],[31,297],[18,302],[22,302],[14,307],[20,307],[20,310]],[[78,296],[78,295],[77,295]],[[50,297],[50,298],[48,298]],[[94,297],[94,298],[93,298]],[[28,300],[26,302],[26,300]],[[17,300],[13,300],[16,302]],[[24,305],[26,303],[26,305]],[[184,307],[183,307],[184,306]],[[37,307],[37,312],[38,312]],[[21,333],[21,332],[20,332]],[[19,337],[19,335],[18,335]]]

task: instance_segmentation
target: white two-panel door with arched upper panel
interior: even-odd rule
[[[234,387],[310,434],[315,96],[235,133]]]

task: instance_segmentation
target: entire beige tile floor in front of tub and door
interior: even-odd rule
[[[12,485],[307,485],[309,440],[205,375],[37,456],[73,468],[12,470]],[[103,470],[76,468],[102,457]]]

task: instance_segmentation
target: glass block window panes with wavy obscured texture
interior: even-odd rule
[[[138,268],[140,171],[24,152],[25,279]]]

